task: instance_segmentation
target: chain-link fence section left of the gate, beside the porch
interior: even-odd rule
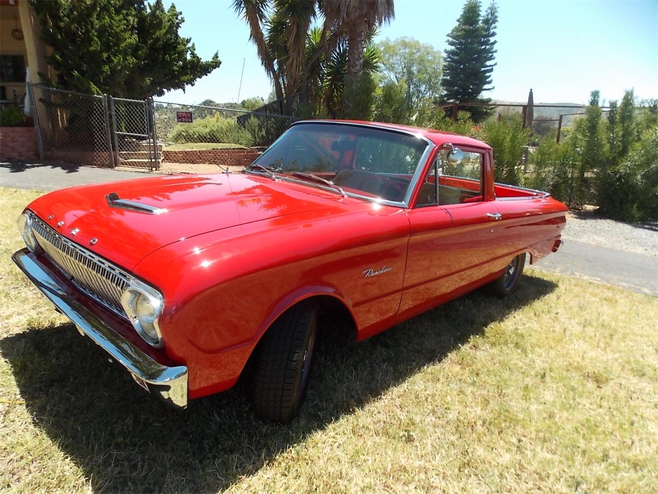
[[[43,157],[112,167],[107,97],[32,86]]]

